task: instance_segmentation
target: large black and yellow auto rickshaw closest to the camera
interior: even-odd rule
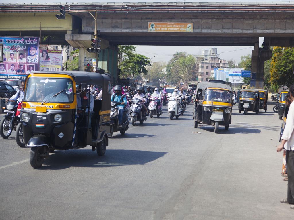
[[[101,86],[102,100],[93,100],[86,84]],[[110,89],[109,75],[94,72],[27,75],[20,119],[31,166],[41,167],[55,149],[91,145],[104,155],[110,137]]]

